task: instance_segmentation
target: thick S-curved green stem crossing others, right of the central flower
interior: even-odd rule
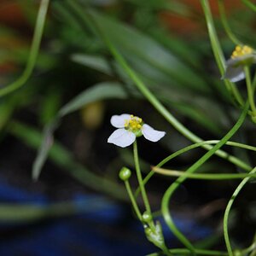
[[[246,104],[246,107],[243,109],[240,118],[237,120],[236,125],[232,127],[232,129],[206,154],[204,154],[201,159],[197,160],[194,165],[190,166],[187,170],[188,173],[195,172],[203,163],[205,163],[219,148],[221,148],[225,143],[228,142],[230,137],[232,137],[236,131],[241,127],[243,124],[246,116],[247,116],[247,110],[248,110],[248,102]],[[195,254],[195,248],[192,246],[190,241],[183,236],[183,234],[177,229],[176,225],[173,222],[171,212],[169,210],[169,201],[171,200],[172,195],[176,191],[176,189],[179,187],[183,181],[186,180],[186,177],[178,177],[177,181],[172,183],[172,185],[166,190],[165,195],[163,196],[162,203],[161,203],[161,211],[163,214],[163,217],[166,220],[166,224],[169,226],[169,228],[172,230],[172,233],[177,236],[177,238],[189,248],[191,253]]]

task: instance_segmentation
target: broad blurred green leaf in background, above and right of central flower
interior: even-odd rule
[[[108,32],[109,40],[122,55],[125,55],[125,58],[130,61],[138,73],[147,75],[148,78],[154,79],[158,83],[161,76],[161,79],[165,80],[170,87],[176,84],[180,88],[190,88],[204,93],[210,92],[200,75],[197,75],[193,69],[154,39],[96,11],[90,11],[90,15],[103,31]],[[172,84],[172,81],[175,84]]]

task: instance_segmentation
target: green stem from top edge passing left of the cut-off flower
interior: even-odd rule
[[[219,72],[223,76],[225,72],[225,59],[224,59],[223,51],[218,42],[218,36],[215,30],[214,22],[212,19],[212,12],[211,12],[208,0],[201,0],[201,6],[207,20],[207,28],[208,28],[209,38],[212,44],[213,55],[215,56],[215,60],[218,65]],[[228,79],[224,79],[224,84],[226,85],[227,90],[229,90],[233,94],[233,96],[236,99],[236,102],[238,102],[240,106],[244,106],[244,101],[241,97],[241,94],[237,90],[236,85],[231,83]]]

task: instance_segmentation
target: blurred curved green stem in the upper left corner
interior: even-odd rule
[[[46,14],[49,7],[49,0],[42,0],[40,3],[40,7],[38,10],[38,18],[35,26],[34,35],[32,38],[32,46],[30,49],[30,53],[26,62],[26,68],[19,79],[15,80],[12,84],[9,84],[3,87],[0,90],[0,96],[5,96],[11,93],[14,90],[19,89],[23,84],[26,83],[27,79],[32,74],[32,70],[35,67],[37,57],[38,57],[38,50],[40,47],[42,35],[44,32],[44,24],[46,20]]]

